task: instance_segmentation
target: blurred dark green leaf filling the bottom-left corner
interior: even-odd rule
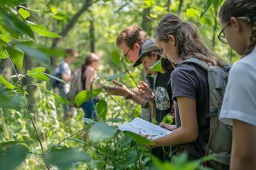
[[[13,170],[25,161],[28,154],[26,146],[21,144],[0,144],[0,169]]]

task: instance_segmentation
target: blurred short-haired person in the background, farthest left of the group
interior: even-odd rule
[[[69,65],[71,65],[74,59],[76,59],[78,56],[79,56],[79,53],[76,50],[72,48],[66,49],[66,55],[64,59],[61,61],[61,64],[58,66],[61,74],[61,79],[63,81],[71,82],[73,77],[72,77],[72,72],[70,70]],[[59,86],[58,89],[61,97],[64,99],[67,99],[67,94],[70,90],[70,84],[61,82],[61,86]],[[63,105],[63,111],[64,111],[63,119],[66,120],[70,116],[68,105]]]

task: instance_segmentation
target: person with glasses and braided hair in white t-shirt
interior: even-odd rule
[[[220,121],[233,127],[230,169],[256,168],[256,1],[226,0],[218,35],[242,57],[230,70]]]

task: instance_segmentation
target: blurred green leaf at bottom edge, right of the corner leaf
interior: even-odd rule
[[[46,161],[60,169],[67,169],[79,161],[89,162],[90,156],[73,148],[53,148],[46,155]]]

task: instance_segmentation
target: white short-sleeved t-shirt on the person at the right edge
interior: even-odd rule
[[[232,66],[219,119],[256,126],[256,48]]]

